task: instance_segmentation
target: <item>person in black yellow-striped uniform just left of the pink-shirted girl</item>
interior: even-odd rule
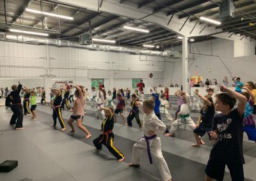
[[[61,115],[61,101],[62,101],[62,97],[61,97],[61,91],[59,89],[54,89],[52,88],[51,91],[54,91],[55,94],[55,98],[52,101],[52,119],[53,119],[53,125],[52,126],[56,126],[57,124],[57,117],[58,120],[60,122],[60,126],[61,126],[61,131],[65,131],[67,128],[65,126],[65,122],[62,118]]]

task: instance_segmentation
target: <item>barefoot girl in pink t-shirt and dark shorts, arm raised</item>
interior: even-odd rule
[[[84,101],[84,95],[83,95],[83,89],[82,86],[76,85],[74,86],[76,88],[76,91],[74,93],[76,97],[76,101],[74,101],[74,113],[70,116],[70,119],[68,120],[68,125],[71,127],[71,130],[68,131],[70,133],[75,132],[73,122],[76,120],[77,122],[77,127],[84,131],[86,133],[86,139],[92,137],[92,134],[86,129],[86,127],[83,126],[83,118],[84,118],[84,106],[83,106],[83,101]]]

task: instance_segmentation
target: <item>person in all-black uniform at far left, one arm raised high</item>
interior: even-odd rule
[[[22,126],[23,122],[23,114],[22,114],[22,106],[21,106],[21,99],[20,99],[20,91],[22,85],[19,82],[19,85],[12,86],[12,92],[6,98],[6,105],[11,106],[11,110],[13,112],[12,119],[10,120],[10,124],[16,124],[15,129],[20,130],[24,129]],[[12,105],[11,105],[12,104]],[[16,122],[17,120],[17,122]]]

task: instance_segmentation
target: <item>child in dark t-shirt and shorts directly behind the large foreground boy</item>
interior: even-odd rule
[[[198,98],[202,98],[204,101],[204,107],[200,110],[200,117],[198,118],[196,128],[194,129],[194,135],[196,139],[196,143],[191,145],[193,147],[200,147],[201,145],[204,145],[204,141],[202,140],[202,137],[205,133],[209,133],[212,128],[212,120],[215,113],[214,104],[212,101],[212,97],[209,95],[202,96],[195,92],[195,94],[198,96]]]

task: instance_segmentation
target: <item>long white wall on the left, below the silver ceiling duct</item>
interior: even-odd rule
[[[146,55],[49,46],[49,66],[49,73],[56,75],[52,82],[73,80],[85,87],[91,87],[92,78],[104,78],[106,87],[111,89],[122,85],[131,88],[132,78],[143,78],[146,86],[147,82],[158,86],[164,79],[163,58]],[[153,80],[150,80],[149,73],[153,73]],[[0,87],[10,87],[13,84],[4,81],[6,78],[26,78],[29,80],[28,84],[33,83],[33,87],[43,87],[44,81],[35,80],[42,78],[42,75],[47,75],[46,45],[0,41]],[[118,85],[118,80],[115,79],[122,79],[122,83]]]

